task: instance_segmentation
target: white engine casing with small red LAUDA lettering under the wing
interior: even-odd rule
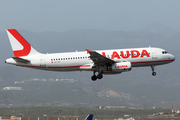
[[[126,72],[131,70],[131,62],[119,62],[112,64],[112,71]]]

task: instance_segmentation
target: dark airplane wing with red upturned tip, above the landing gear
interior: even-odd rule
[[[86,49],[86,51],[87,51],[87,53],[90,54],[90,58],[94,62],[95,65],[106,65],[106,64],[115,63],[114,60],[111,60],[111,59],[97,53],[96,51],[90,51],[88,49]]]

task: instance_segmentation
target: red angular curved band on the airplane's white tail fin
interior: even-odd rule
[[[7,31],[23,46],[23,49],[13,50],[14,56],[27,56],[31,51],[31,45],[15,29],[7,29]],[[13,46],[12,43],[11,45]]]

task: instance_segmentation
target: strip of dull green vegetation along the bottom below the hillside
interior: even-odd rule
[[[52,119],[76,119],[83,120],[88,114],[94,114],[97,119],[117,119],[125,114],[131,117],[152,115],[154,113],[170,113],[171,109],[128,109],[128,108],[109,108],[98,109],[92,107],[17,107],[0,108],[0,116],[16,115],[23,119],[27,117],[37,118],[43,116]],[[44,117],[44,118],[45,118]]]

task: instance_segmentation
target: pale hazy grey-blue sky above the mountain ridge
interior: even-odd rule
[[[152,22],[180,30],[180,0],[1,0],[0,32],[138,30]]]

